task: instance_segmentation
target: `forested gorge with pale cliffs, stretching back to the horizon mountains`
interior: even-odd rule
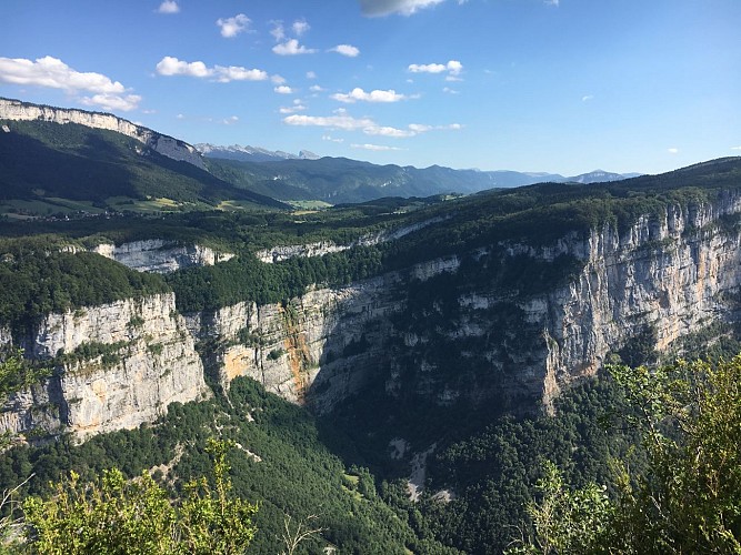
[[[317,513],[309,553],[501,553],[540,458],[577,485],[607,482],[611,457],[645,467],[634,430],[600,427],[633,410],[605,367],[741,345],[739,158],[484,186],[219,161],[112,115],[2,102],[0,344],[31,376],[2,391],[3,488],[159,467],[177,496],[228,437],[258,553],[284,515]],[[100,215],[47,218],[58,199]]]

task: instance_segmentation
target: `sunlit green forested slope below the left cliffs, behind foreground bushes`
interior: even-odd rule
[[[216,436],[236,444],[228,456],[234,495],[259,506],[251,552],[280,553],[286,516],[296,523],[316,515],[324,531],[307,539],[301,553],[324,546],[358,554],[405,548],[455,553],[415,532],[420,514],[403,502],[401,483],[378,481],[367,468],[346,465],[333,455],[324,437],[332,433],[339,432],[329,423],[319,425],[306,410],[239,379],[228,398],[173,404],[154,426],[102,434],[79,446],[61,437],[42,447],[6,452],[0,457],[0,488],[34,474],[24,494],[48,496],[53,492],[50,482],[70,471],[84,482],[117,467],[126,477],[152,470],[173,495],[182,495],[190,478],[211,475],[206,446]],[[384,497],[401,504],[385,503]]]

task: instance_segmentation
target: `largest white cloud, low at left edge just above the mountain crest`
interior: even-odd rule
[[[141,97],[132,94],[119,81],[102,73],[76,71],[50,56],[37,60],[0,58],[0,82],[92,93],[80,101],[104,110],[130,111],[141,101]]]

